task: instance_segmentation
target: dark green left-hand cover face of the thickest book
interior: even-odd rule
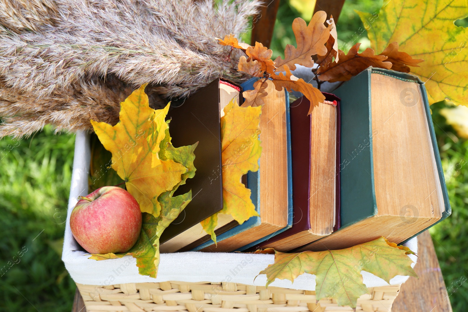
[[[373,180],[371,70],[335,90],[340,102],[341,228],[377,214]]]

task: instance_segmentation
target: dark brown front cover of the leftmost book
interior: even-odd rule
[[[223,208],[221,177],[221,129],[219,79],[212,81],[185,101],[173,101],[168,118],[169,133],[175,147],[192,145],[195,149],[195,176],[179,186],[174,196],[192,190],[192,200],[162,233],[160,243],[175,237]],[[212,177],[216,173],[216,179]]]

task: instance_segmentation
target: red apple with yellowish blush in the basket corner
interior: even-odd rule
[[[79,197],[70,216],[70,228],[90,254],[124,253],[139,237],[140,206],[126,190],[104,186]]]

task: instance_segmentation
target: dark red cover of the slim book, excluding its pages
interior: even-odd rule
[[[340,146],[340,98],[334,94],[323,93],[326,101],[336,101],[336,194],[339,195],[339,146]],[[307,115],[310,102],[305,96],[300,97],[290,105],[291,114],[291,146],[292,146],[292,227],[268,240],[250,245],[249,251],[261,249],[266,244],[284,239],[288,236],[308,231],[310,229],[309,196],[310,196],[310,144],[311,116]],[[306,169],[308,168],[308,169]],[[336,222],[334,231],[339,228],[340,196],[336,196]]]

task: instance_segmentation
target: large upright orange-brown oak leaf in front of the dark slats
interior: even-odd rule
[[[295,64],[312,67],[314,65],[313,55],[327,53],[325,43],[329,39],[333,26],[325,27],[326,19],[327,14],[324,11],[316,12],[308,26],[303,19],[296,18],[292,22],[292,31],[296,36],[297,48],[291,44],[286,45],[285,59],[278,56],[275,59],[275,66],[280,70],[283,70],[284,65],[288,65],[291,70],[296,69]]]

